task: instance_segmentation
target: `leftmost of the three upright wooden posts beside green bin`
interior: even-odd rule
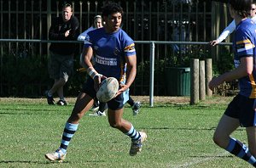
[[[199,102],[199,59],[191,59],[190,69],[190,105],[194,105]]]

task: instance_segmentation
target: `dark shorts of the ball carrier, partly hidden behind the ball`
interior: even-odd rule
[[[90,98],[96,98],[96,90],[94,89],[94,81],[91,79],[90,76],[88,76],[87,81],[85,81],[83,85],[83,89],[81,92],[85,92],[90,96]],[[125,103],[129,99],[129,89],[127,89],[122,94],[119,94],[119,96],[111,99],[108,104],[108,109],[117,110],[122,109],[125,105]]]

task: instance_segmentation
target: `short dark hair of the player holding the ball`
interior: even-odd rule
[[[109,2],[102,8],[102,16],[108,16],[114,13],[124,14],[123,8],[118,3]]]

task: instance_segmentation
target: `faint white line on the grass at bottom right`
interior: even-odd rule
[[[179,168],[179,167],[189,167],[189,166],[191,166],[191,165],[197,165],[197,164],[200,164],[200,163],[202,163],[202,162],[206,162],[206,161],[209,161],[209,160],[218,160],[218,157],[219,156],[226,156],[226,155],[228,155],[228,154],[230,154],[229,152],[224,152],[224,153],[220,153],[220,154],[217,154],[216,156],[209,156],[209,157],[207,157],[206,156],[206,158],[205,159],[198,159],[198,158],[195,158],[195,159],[192,159],[192,160],[189,160],[189,161],[187,161],[186,163],[184,163],[184,164],[182,164],[182,165],[170,165],[170,166],[168,166],[168,167],[175,167],[175,168]]]

